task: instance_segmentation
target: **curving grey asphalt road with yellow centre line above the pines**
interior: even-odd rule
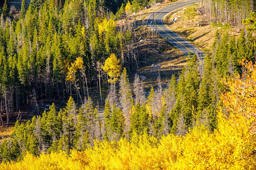
[[[191,53],[191,56],[193,54],[197,54],[197,57],[200,61],[203,61],[204,53],[201,52],[199,49],[197,49],[192,44],[189,44],[189,42],[185,41],[182,37],[178,36],[175,32],[171,31],[164,25],[163,18],[168,13],[177,10],[178,8],[182,8],[188,5],[192,5],[193,3],[197,3],[198,1],[190,0],[190,1],[184,1],[172,4],[170,6],[161,8],[160,10],[153,12],[147,19],[147,24],[150,25],[152,29],[154,29],[156,32],[158,32],[161,36],[163,36],[165,39],[168,37],[168,41],[171,42],[174,46],[176,46],[178,49],[181,50],[184,54],[188,56],[189,53]]]

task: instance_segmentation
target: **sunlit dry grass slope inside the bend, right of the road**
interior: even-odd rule
[[[209,52],[217,30],[220,30],[220,32],[229,32],[230,35],[235,36],[239,34],[238,27],[213,25],[207,19],[207,16],[199,15],[197,11],[194,13],[194,17],[188,18],[189,15],[186,14],[186,12],[193,8],[197,9],[197,5],[179,8],[178,10],[170,12],[163,20],[164,24],[172,31],[175,31],[178,35],[191,42],[191,44],[194,44],[203,51],[206,50]],[[177,18],[175,23],[172,22],[174,18]]]

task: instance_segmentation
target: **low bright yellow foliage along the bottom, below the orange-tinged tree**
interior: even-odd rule
[[[246,138],[244,138],[246,139]],[[95,141],[84,152],[27,154],[22,162],[0,165],[1,169],[253,169],[252,147],[241,134],[230,136],[197,126],[187,137],[168,135],[160,140],[139,136],[138,143]],[[247,150],[247,151],[246,151]]]

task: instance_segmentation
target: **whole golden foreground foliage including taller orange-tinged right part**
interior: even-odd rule
[[[185,137],[173,134],[160,142],[150,135],[135,135],[112,142],[94,141],[83,152],[27,154],[22,162],[2,163],[0,169],[255,169],[255,65],[242,78],[225,81],[218,130],[197,125]]]

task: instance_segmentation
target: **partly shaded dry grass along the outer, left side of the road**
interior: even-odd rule
[[[137,25],[135,31],[137,42],[134,46],[135,49],[138,49],[139,56],[139,70],[137,74],[146,76],[147,79],[143,81],[146,90],[149,90],[151,86],[157,86],[159,74],[163,83],[168,82],[173,74],[179,74],[187,59],[187,56],[180,52],[179,49],[171,45],[166,39],[156,35],[156,33],[146,25],[146,20],[152,12],[181,1],[166,2],[167,3],[153,6],[147,10],[138,12],[136,15],[126,17],[116,22],[120,28],[129,27],[128,25],[132,25],[133,23]],[[140,37],[142,38],[141,41],[138,40]],[[161,69],[157,71],[151,70],[152,64],[160,65]],[[131,80],[133,80],[133,77],[134,74],[130,75]]]

